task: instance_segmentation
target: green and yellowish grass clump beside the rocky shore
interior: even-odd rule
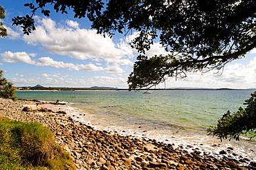
[[[39,123],[0,116],[0,169],[75,169],[53,132]]]

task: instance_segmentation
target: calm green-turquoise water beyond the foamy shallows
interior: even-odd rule
[[[237,111],[253,91],[23,91],[18,98],[74,103],[92,114],[134,117],[170,126],[205,129],[226,111]]]

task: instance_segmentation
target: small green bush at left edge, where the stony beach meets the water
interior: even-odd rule
[[[15,94],[15,87],[13,87],[13,84],[8,82],[6,78],[3,78],[3,71],[0,70],[0,96],[2,98],[10,98],[12,100],[17,100],[16,94]]]

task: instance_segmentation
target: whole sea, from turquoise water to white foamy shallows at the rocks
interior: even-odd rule
[[[255,139],[223,140],[208,136],[226,111],[237,111],[252,90],[156,90],[143,91],[18,91],[18,98],[68,103],[77,121],[121,135],[156,139],[188,151],[199,149],[220,156],[256,158]],[[237,158],[238,159],[238,158]]]

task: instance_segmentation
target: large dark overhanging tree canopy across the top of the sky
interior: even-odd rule
[[[140,54],[127,81],[129,89],[152,87],[168,76],[182,78],[185,72],[220,70],[256,46],[256,1],[109,0],[104,4],[101,0],[36,0],[35,4],[24,4],[32,14],[15,17],[13,24],[21,25],[24,33],[29,34],[35,30],[33,16],[37,10],[50,16],[50,10],[45,9],[47,4],[62,14],[71,9],[74,17],[88,17],[99,34],[139,32],[131,47],[142,54],[154,41],[161,42],[170,54]],[[149,72],[154,78],[150,78]]]

